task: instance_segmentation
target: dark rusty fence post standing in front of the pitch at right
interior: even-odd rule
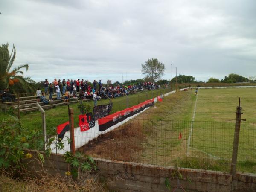
[[[240,107],[240,97],[239,97],[239,106],[236,107],[236,125],[235,125],[232,162],[231,162],[231,170],[230,170],[230,173],[232,174],[232,180],[234,180],[234,178],[236,176],[236,161],[237,161],[237,152],[238,152],[238,145],[239,145],[239,132],[240,132],[241,115],[242,114],[243,113],[242,113],[242,108]]]

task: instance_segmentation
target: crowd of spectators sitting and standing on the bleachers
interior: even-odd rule
[[[80,98],[80,99],[93,99],[95,97],[97,100],[104,99],[113,99],[116,97],[127,96],[128,94],[136,93],[136,90],[143,89],[155,89],[157,87],[156,84],[151,82],[141,82],[136,85],[105,85],[103,86],[102,81],[96,80],[93,83],[88,81],[84,81],[84,79],[54,79],[52,83],[49,83],[48,79],[44,81],[44,92],[41,92],[41,89],[38,88],[36,91],[36,97],[38,102],[44,102],[44,104],[48,104],[52,101],[53,94],[56,94],[57,100],[61,99],[61,96],[65,96],[65,102],[68,101],[70,97]],[[93,96],[95,93],[95,96]],[[49,95],[49,101],[45,98],[46,95]],[[15,101],[15,96],[10,94],[9,89],[5,89],[0,93],[2,102],[11,102]]]

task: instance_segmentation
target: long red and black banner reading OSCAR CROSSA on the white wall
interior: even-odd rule
[[[112,115],[103,117],[98,120],[99,123],[99,131],[105,131],[108,128],[110,128],[113,125],[116,125],[119,122],[122,122],[126,118],[130,116],[134,116],[137,113],[140,113],[145,108],[148,108],[150,106],[154,105],[154,99],[147,100],[143,103],[140,103],[138,105],[135,105],[131,108],[124,109],[122,111],[118,111],[116,113],[113,113]]]

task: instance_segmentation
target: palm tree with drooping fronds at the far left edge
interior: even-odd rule
[[[12,91],[15,93],[34,91],[34,87],[31,83],[35,83],[35,81],[29,77],[23,77],[23,71],[21,71],[22,68],[25,68],[27,71],[29,65],[24,64],[12,68],[16,49],[13,45],[12,53],[9,54],[8,46],[8,43],[0,46],[0,89],[11,88],[13,86],[14,89]]]

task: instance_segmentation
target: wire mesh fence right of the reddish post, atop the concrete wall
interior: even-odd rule
[[[229,172],[234,127],[234,122],[130,119],[115,131],[89,138],[79,151],[112,160]],[[240,171],[256,171],[255,136],[255,124],[242,124],[237,166]]]

